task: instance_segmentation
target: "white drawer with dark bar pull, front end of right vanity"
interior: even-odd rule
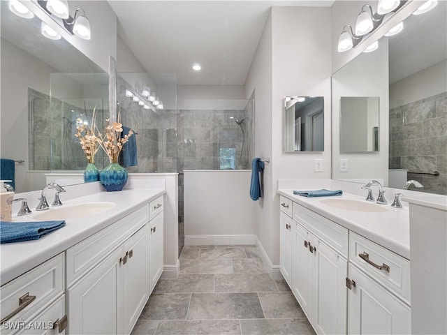
[[[349,239],[349,260],[410,304],[409,260],[355,232],[349,232]]]

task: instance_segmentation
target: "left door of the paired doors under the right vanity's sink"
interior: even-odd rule
[[[292,292],[307,318],[311,316],[312,304],[312,258],[309,252],[309,232],[293,221],[293,276]]]

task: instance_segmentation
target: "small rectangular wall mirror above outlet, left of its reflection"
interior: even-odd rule
[[[284,151],[324,151],[324,97],[284,97]]]

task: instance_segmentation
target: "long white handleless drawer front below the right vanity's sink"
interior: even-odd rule
[[[304,225],[325,244],[348,258],[349,230],[295,202],[293,202],[293,220]]]

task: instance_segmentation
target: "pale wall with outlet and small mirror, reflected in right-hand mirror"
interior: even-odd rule
[[[366,154],[340,154],[340,98],[379,97],[379,149]],[[332,178],[381,178],[388,185],[388,40],[379,49],[361,54],[332,77]],[[340,172],[340,159],[349,160],[349,172]]]

